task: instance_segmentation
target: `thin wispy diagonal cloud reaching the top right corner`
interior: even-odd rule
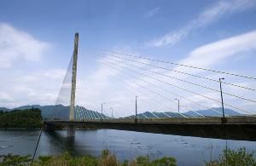
[[[244,11],[245,9],[253,8],[255,7],[255,4],[256,1],[254,0],[219,1],[212,5],[211,8],[202,11],[195,20],[189,21],[186,26],[183,26],[177,31],[171,31],[163,37],[154,39],[153,41],[146,43],[146,45],[151,47],[160,47],[168,44],[175,44],[183,40],[183,38],[187,37],[189,33],[197,28],[208,26],[226,14],[235,14]]]

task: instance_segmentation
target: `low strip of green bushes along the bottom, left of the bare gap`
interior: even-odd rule
[[[30,165],[32,159],[30,156],[20,157],[18,155],[3,156],[3,163],[0,166],[21,166]],[[125,160],[124,163],[119,163],[115,155],[108,150],[102,151],[102,157],[73,157],[68,152],[64,152],[60,156],[55,157],[38,157],[38,161],[33,163],[33,166],[175,166],[176,160],[173,157],[162,157],[153,161],[149,157],[137,157],[135,160]]]

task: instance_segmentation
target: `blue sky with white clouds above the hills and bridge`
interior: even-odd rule
[[[255,18],[255,0],[2,0],[0,106],[56,104],[79,32],[77,105],[105,103],[115,117],[134,114],[136,95],[138,112],[177,112],[175,99],[181,112],[220,107],[218,81],[181,72],[249,89],[256,80],[154,60],[255,78]],[[224,107],[256,113],[255,90],[238,86],[223,85]]]

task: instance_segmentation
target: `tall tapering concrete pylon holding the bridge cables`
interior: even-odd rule
[[[70,121],[74,120],[78,52],[79,52],[79,33],[76,33],[74,38],[74,49],[73,49],[73,75],[72,75],[72,88],[71,88],[71,100],[70,100],[70,112],[69,112]]]

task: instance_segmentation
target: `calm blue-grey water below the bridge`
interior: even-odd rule
[[[39,131],[32,130],[0,130],[0,155],[32,155],[38,135]],[[77,130],[73,141],[67,141],[66,135],[66,130],[43,132],[37,156],[56,155],[69,150],[78,156],[99,157],[102,150],[108,148],[121,161],[149,155],[152,159],[175,157],[177,165],[204,165],[204,161],[217,159],[226,147],[237,149],[244,146],[248,152],[256,152],[256,142],[243,140],[159,135],[114,129]]]

